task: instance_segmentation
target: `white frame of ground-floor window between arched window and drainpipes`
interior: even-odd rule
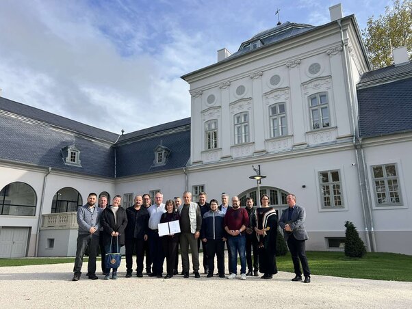
[[[339,176],[339,180],[334,181],[332,177],[332,173],[336,173]],[[328,181],[324,182],[322,180],[322,174],[326,173],[328,175]],[[317,172],[318,175],[318,185],[319,185],[319,193],[320,193],[320,207],[322,210],[333,210],[333,209],[345,209],[344,203],[344,190],[343,190],[343,183],[344,180],[342,178],[341,170],[334,169],[334,170],[320,170]],[[339,186],[339,188],[337,188]],[[327,187],[325,190],[324,187]],[[339,194],[337,194],[337,190],[339,189]],[[326,194],[327,192],[327,194]],[[329,205],[326,205],[326,198],[329,198]],[[340,199],[340,204],[337,204],[338,198]]]

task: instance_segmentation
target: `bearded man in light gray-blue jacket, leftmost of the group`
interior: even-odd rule
[[[81,266],[86,249],[89,249],[88,273],[89,279],[96,280],[96,256],[99,247],[100,216],[101,208],[96,206],[96,193],[90,193],[86,205],[77,210],[77,224],[79,224],[79,234],[77,236],[77,250],[75,258],[75,273],[72,281],[78,281],[81,276]]]

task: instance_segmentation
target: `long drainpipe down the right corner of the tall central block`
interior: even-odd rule
[[[344,57],[344,72],[345,72],[345,88],[346,92],[348,93],[348,100],[349,100],[349,106],[350,106],[350,122],[352,126],[352,144],[355,148],[355,157],[357,160],[357,174],[358,174],[358,180],[359,180],[359,189],[361,191],[361,204],[362,204],[362,215],[363,215],[363,225],[365,226],[365,238],[366,238],[366,246],[369,252],[373,251],[374,248],[371,247],[370,244],[370,231],[368,229],[368,221],[372,221],[372,219],[369,217],[368,218],[368,213],[366,209],[369,209],[368,207],[368,196],[365,194],[365,191],[363,190],[363,186],[365,185],[362,180],[362,174],[365,174],[365,170],[363,168],[363,164],[361,164],[361,155],[359,154],[358,148],[361,148],[361,143],[359,142],[357,144],[357,126],[355,124],[355,111],[353,108],[353,100],[352,100],[352,87],[350,85],[350,75],[348,71],[348,54],[346,53],[346,48],[345,48],[345,41],[344,41],[344,30],[342,29],[342,23],[340,19],[337,20],[337,25],[339,25],[340,28],[340,36],[341,36],[341,43],[342,43],[342,51],[343,51],[343,57]],[[367,185],[365,187],[368,187]],[[369,220],[368,220],[369,219]]]

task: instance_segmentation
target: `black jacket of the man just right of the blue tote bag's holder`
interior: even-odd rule
[[[149,211],[144,206],[136,211],[134,206],[126,209],[127,226],[125,231],[126,239],[144,239],[149,229]]]

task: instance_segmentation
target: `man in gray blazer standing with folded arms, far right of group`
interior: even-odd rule
[[[283,228],[283,237],[287,241],[292,261],[294,263],[295,278],[292,281],[302,281],[302,271],[300,271],[300,263],[302,264],[303,275],[305,280],[303,282],[311,282],[311,271],[307,263],[305,252],[305,241],[309,239],[303,223],[306,219],[306,211],[303,207],[296,205],[296,196],[289,194],[286,197],[288,209],[283,211],[279,226]]]

